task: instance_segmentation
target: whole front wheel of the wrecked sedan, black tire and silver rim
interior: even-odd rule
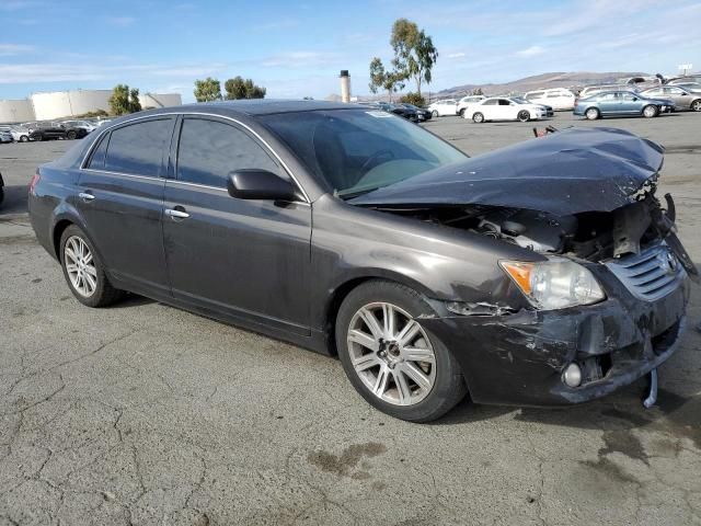
[[[390,311],[393,329],[384,324],[386,313]],[[417,321],[422,315],[434,313],[421,294],[379,279],[352,290],[338,310],[336,348],[348,380],[368,403],[397,419],[436,420],[467,392],[452,354]],[[365,321],[368,317],[377,323],[375,331]],[[388,331],[393,338],[388,336]],[[402,346],[398,338],[402,333],[407,347]],[[355,338],[349,341],[352,334]],[[415,353],[414,358],[405,354],[409,345]]]

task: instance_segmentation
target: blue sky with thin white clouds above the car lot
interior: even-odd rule
[[[391,58],[400,16],[438,48],[432,91],[548,71],[701,70],[701,2],[485,1],[0,1],[0,99],[112,88],[180,92],[241,75],[274,98],[324,98],[350,71]]]

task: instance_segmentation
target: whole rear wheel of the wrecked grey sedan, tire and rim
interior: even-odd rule
[[[80,251],[77,248],[83,249],[82,256],[80,256]],[[70,249],[70,252],[67,249]],[[88,252],[84,252],[84,249]],[[59,254],[64,277],[78,301],[88,307],[106,307],[122,299],[124,291],[112,286],[93,244],[88,239],[88,236],[76,225],[71,225],[64,230]],[[88,259],[89,256],[90,259]],[[71,267],[70,271],[69,267]],[[92,271],[90,267],[92,267]],[[77,275],[84,277],[81,281]],[[92,276],[92,283],[89,276]],[[81,283],[83,284],[82,287],[80,286]]]

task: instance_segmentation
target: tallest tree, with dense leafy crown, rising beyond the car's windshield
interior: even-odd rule
[[[424,30],[406,19],[399,19],[392,25],[390,38],[394,59],[394,69],[404,78],[413,78],[416,82],[416,93],[421,96],[421,84],[432,81],[432,69],[438,59],[438,50],[433,39]]]

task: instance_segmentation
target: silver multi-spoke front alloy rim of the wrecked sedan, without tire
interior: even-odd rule
[[[436,382],[436,355],[428,335],[395,305],[374,302],[358,309],[347,343],[356,374],[384,402],[416,404]]]

